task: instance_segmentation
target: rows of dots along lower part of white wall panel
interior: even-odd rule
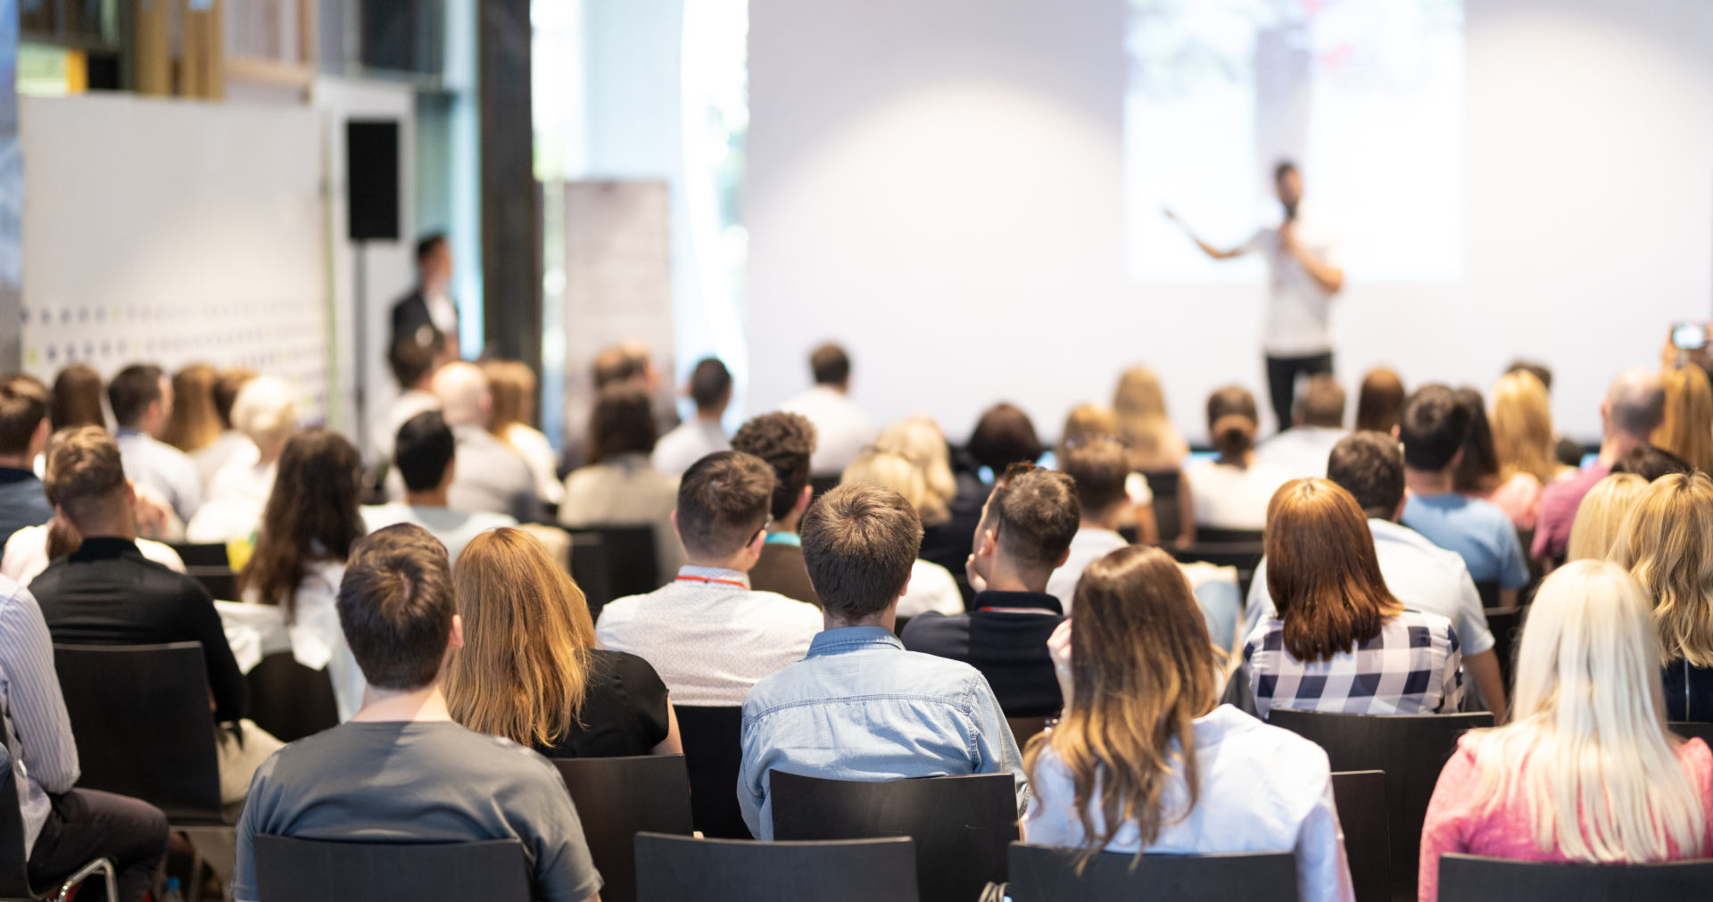
[[[296,385],[300,421],[327,409],[327,310],[320,298],[226,303],[26,303],[24,370],[46,383],[69,363],[103,378],[132,363],[247,366]]]

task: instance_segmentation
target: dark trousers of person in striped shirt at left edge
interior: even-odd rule
[[[46,887],[98,857],[118,875],[118,902],[137,902],[154,887],[166,856],[166,815],[159,808],[96,789],[48,796],[48,820],[29,852],[29,881]],[[84,881],[82,899],[101,899],[101,878]]]

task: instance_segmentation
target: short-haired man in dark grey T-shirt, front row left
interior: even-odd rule
[[[577,808],[558,770],[447,710],[447,661],[464,644],[445,549],[418,525],[351,549],[339,623],[368,679],[348,724],[291,743],[255,772],[238,818],[231,895],[260,899],[257,835],[363,842],[517,840],[536,899],[598,900]]]

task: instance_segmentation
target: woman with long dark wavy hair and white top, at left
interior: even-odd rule
[[[336,431],[293,435],[279,454],[255,551],[238,573],[238,597],[279,614],[278,626],[264,630],[262,654],[289,650],[298,664],[325,669],[339,721],[363,705],[363,674],[334,609],[351,546],[363,537],[360,467],[356,447]]]

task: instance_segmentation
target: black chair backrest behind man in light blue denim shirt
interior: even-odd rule
[[[769,780],[774,839],[911,837],[923,902],[968,902],[1006,881],[1018,839],[1011,774],[865,782],[774,770]]]

